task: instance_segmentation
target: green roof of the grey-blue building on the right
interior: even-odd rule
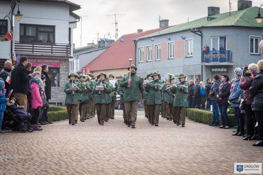
[[[218,27],[218,26],[244,26],[244,27],[263,27],[254,19],[258,14],[259,7],[249,7],[228,13],[214,14],[194,21],[179,24],[159,32],[149,34],[140,38],[150,38],[153,36],[175,33],[183,30],[195,29],[198,27]],[[207,20],[210,18],[210,21]]]

